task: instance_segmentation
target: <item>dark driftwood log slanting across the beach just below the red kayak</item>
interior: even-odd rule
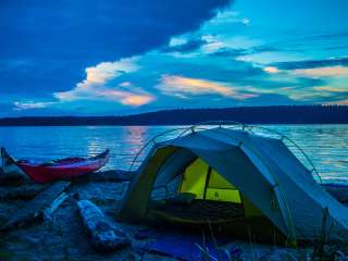
[[[70,186],[69,182],[58,182],[46,188],[22,209],[13,213],[11,219],[0,227],[0,231],[11,231],[28,225],[42,216],[45,209],[49,208],[57,197]]]

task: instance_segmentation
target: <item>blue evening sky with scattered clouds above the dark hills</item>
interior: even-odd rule
[[[0,116],[348,104],[347,0],[1,0]]]

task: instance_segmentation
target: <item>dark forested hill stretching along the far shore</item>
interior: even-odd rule
[[[175,109],[123,116],[4,117],[0,126],[188,125],[204,121],[253,124],[348,124],[348,105]]]

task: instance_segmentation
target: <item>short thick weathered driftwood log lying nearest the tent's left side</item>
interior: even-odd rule
[[[130,244],[125,233],[108,221],[101,210],[91,201],[79,200],[77,208],[97,250],[115,251]]]

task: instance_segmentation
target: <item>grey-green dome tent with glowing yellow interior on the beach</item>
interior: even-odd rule
[[[282,139],[216,127],[158,142],[132,179],[119,217],[154,219],[151,202],[160,188],[169,195],[190,192],[198,200],[239,204],[246,221],[262,215],[287,238],[318,239],[325,213],[331,237],[347,235],[348,210]]]

